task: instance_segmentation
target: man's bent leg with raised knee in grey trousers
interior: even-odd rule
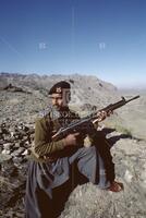
[[[110,186],[105,162],[95,146],[80,148],[69,160],[70,164],[76,160],[78,171],[92,183],[97,184],[100,189]]]

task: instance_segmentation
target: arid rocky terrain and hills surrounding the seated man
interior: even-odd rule
[[[24,217],[28,148],[34,123],[49,105],[47,90],[60,80],[72,86],[70,107],[81,116],[101,109],[124,96],[139,95],[100,123],[111,145],[117,180],[124,191],[100,191],[78,185],[66,202],[61,218],[146,217],[146,92],[120,92],[96,76],[21,75],[0,73],[0,217]]]

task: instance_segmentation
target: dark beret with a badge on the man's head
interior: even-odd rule
[[[56,94],[62,94],[62,89],[70,89],[71,85],[70,83],[65,81],[60,81],[59,83],[56,83],[49,90],[49,95],[56,93]]]

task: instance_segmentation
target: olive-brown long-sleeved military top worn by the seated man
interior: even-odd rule
[[[33,157],[45,160],[47,157],[53,158],[64,149],[64,140],[52,141],[52,135],[71,122],[80,120],[80,117],[69,107],[62,111],[57,111],[54,107],[42,111],[35,123],[35,145],[32,148]]]

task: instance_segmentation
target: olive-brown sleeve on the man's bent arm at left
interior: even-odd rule
[[[51,141],[51,130],[45,120],[37,120],[35,123],[35,147],[34,152],[39,156],[49,156],[64,148],[64,141]]]

